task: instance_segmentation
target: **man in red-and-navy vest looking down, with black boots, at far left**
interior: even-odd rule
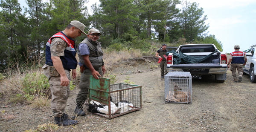
[[[69,117],[64,113],[67,99],[70,94],[70,70],[72,78],[76,78],[76,45],[73,40],[84,33],[84,24],[77,20],[53,35],[46,45],[46,64],[43,66],[44,74],[48,77],[52,93],[52,112],[54,121],[58,125],[75,125],[76,116]],[[69,119],[71,118],[71,119]]]

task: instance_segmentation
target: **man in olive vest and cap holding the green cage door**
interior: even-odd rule
[[[90,29],[87,38],[78,45],[77,49],[81,79],[79,83],[80,91],[76,96],[75,113],[80,116],[86,115],[82,105],[87,100],[90,75],[93,75],[95,79],[99,79],[106,72],[102,46],[98,41],[100,35],[101,33],[98,29]]]

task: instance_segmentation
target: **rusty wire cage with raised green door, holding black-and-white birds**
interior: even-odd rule
[[[142,86],[126,83],[110,84],[108,78],[95,79],[90,76],[88,99],[89,102],[94,100],[108,105],[108,114],[94,114],[111,119],[142,108]]]

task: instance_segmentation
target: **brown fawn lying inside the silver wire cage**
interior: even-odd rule
[[[181,92],[178,90],[181,90],[180,87],[178,86],[177,83],[173,82],[174,84],[174,100],[177,102],[187,102],[188,101],[188,96],[186,95],[185,92]]]

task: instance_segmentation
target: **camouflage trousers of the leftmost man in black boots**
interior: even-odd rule
[[[61,76],[53,77],[49,75],[49,66],[44,65],[44,74],[48,77],[50,83],[50,89],[52,93],[52,112],[55,117],[61,117],[64,113],[67,98],[70,95],[70,85],[61,86]],[[67,78],[70,80],[70,71],[64,69]]]

